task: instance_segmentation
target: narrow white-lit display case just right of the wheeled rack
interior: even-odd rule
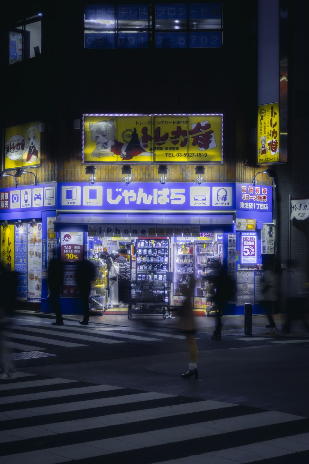
[[[188,284],[189,277],[193,274],[193,251],[194,244],[191,242],[174,244],[174,298],[173,304],[182,304],[184,285]]]

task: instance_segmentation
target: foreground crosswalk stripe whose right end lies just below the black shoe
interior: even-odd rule
[[[74,403],[64,403],[52,406],[33,407],[28,409],[17,409],[14,411],[0,412],[0,421],[10,419],[25,419],[33,416],[45,416],[56,414],[57,412],[81,411],[103,406],[116,406],[128,403],[139,403],[141,401],[161,400],[162,398],[173,398],[175,395],[164,393],[134,393],[132,395],[116,396],[112,398],[100,398],[96,400],[75,401]]]

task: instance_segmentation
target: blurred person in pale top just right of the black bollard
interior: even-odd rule
[[[276,322],[272,315],[274,312],[274,304],[279,299],[279,273],[275,270],[275,261],[269,255],[264,255],[263,259],[263,276],[262,276],[262,291],[263,301],[261,305],[265,308],[268,324],[266,328],[269,329],[266,334],[277,334]]]

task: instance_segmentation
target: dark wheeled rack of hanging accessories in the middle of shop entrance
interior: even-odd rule
[[[165,274],[170,270],[170,247],[167,239],[136,239],[135,281],[132,282],[128,316],[139,311],[162,313],[168,305]]]

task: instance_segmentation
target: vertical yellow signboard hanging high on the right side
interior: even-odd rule
[[[279,162],[279,103],[258,108],[258,164]]]

